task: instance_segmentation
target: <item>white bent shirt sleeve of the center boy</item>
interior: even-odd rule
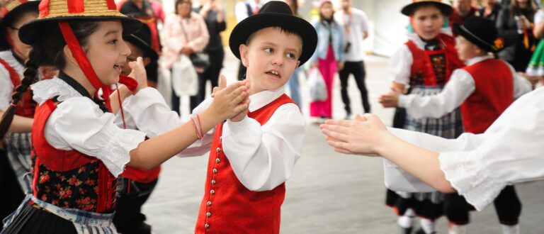
[[[295,104],[280,106],[263,126],[253,118],[227,121],[222,143],[231,167],[247,189],[267,191],[287,181],[302,155],[305,120]]]

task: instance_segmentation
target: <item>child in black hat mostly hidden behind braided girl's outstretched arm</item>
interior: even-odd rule
[[[127,43],[128,48],[130,48],[130,55],[127,56],[127,63],[134,62],[137,60],[137,57],[142,57],[143,65],[145,66],[145,71],[147,74],[147,84],[149,87],[157,87],[157,79],[154,79],[155,82],[152,82],[149,77],[157,77],[157,67],[152,66],[152,64],[157,63],[159,55],[151,47],[152,43],[152,33],[149,30],[149,27],[146,24],[142,24],[142,28],[137,31],[137,33],[132,33],[130,35],[124,35],[123,40]],[[151,66],[150,66],[151,65]],[[132,72],[132,68],[128,65],[123,66],[121,72],[122,76],[128,76]],[[142,90],[144,91],[144,90]],[[158,102],[162,98],[157,95],[157,90],[147,89],[145,91],[152,92],[154,99]],[[134,96],[128,96],[123,103],[123,106],[126,106],[123,109],[123,115],[117,115],[115,123],[120,128],[136,129],[139,130],[136,126],[136,121],[134,120],[139,116],[142,111],[150,112],[149,114],[160,114],[154,113],[152,108],[148,108],[149,105],[130,105],[130,102],[140,102],[133,100]],[[147,100],[149,103],[151,100]],[[163,101],[164,102],[164,101]],[[131,107],[139,108],[131,108]],[[124,119],[123,119],[124,116]],[[142,121],[138,121],[139,123]],[[152,125],[163,124],[159,121],[147,121],[145,124],[147,128],[142,130],[147,130],[152,128]],[[181,125],[177,123],[176,126]],[[175,128],[174,126],[173,128]],[[145,131],[148,138],[157,136],[157,133],[153,131]],[[120,233],[135,233],[135,234],[146,234],[151,233],[151,226],[145,223],[146,217],[142,213],[142,206],[145,204],[152,191],[154,190],[157,182],[159,180],[159,173],[161,172],[161,167],[157,166],[152,169],[143,169],[136,167],[125,167],[125,171],[118,178],[118,197],[117,197],[117,208],[115,208],[115,216],[113,217],[113,224]]]

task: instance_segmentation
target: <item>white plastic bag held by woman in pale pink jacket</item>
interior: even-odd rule
[[[179,60],[174,62],[171,79],[177,96],[198,94],[198,75],[187,56],[180,55]]]

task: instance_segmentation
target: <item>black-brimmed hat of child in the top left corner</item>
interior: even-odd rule
[[[14,0],[11,1],[4,9],[4,18],[0,21],[0,50],[8,50],[11,48],[7,40],[6,30],[11,26],[13,21],[16,20],[17,16],[23,12],[35,11],[38,13],[38,5],[40,1],[23,1],[23,0]]]

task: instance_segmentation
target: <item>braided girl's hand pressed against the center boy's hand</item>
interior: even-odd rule
[[[246,101],[249,96],[247,82],[235,82],[229,86],[226,83],[222,76],[219,87],[214,89],[214,99],[209,107],[222,121],[236,116],[249,106],[249,101]]]

